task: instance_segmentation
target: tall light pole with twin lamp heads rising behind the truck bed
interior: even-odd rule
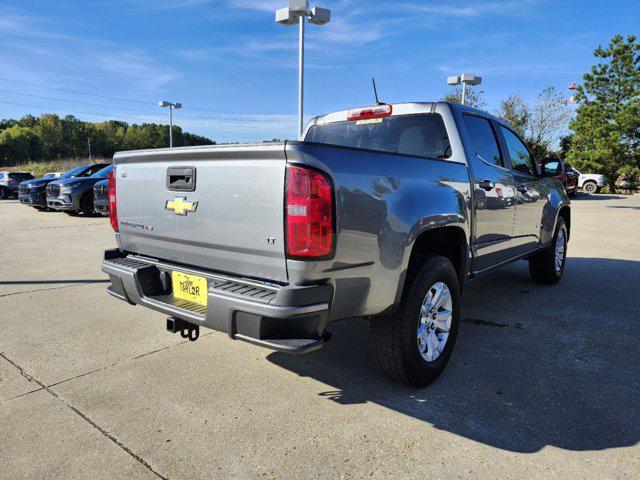
[[[289,6],[276,10],[276,23],[285,25],[300,25],[300,39],[298,46],[298,139],[302,140],[304,131],[304,23],[308,18],[316,25],[326,25],[331,20],[331,10],[313,7],[309,9],[309,0],[289,0]]]

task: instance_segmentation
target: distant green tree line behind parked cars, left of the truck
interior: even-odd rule
[[[1,120],[0,166],[29,161],[88,158],[89,143],[91,154],[96,158],[111,158],[120,150],[168,147],[169,125],[130,125],[115,120],[91,123],[78,120],[73,115],[61,118],[55,114]],[[215,142],[174,126],[173,144],[214,145]]]

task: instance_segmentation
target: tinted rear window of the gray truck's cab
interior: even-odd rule
[[[429,158],[451,156],[447,130],[438,114],[314,125],[309,129],[306,141]]]

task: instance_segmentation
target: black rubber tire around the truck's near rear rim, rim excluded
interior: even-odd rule
[[[435,284],[444,283],[452,300],[449,337],[440,356],[426,361],[418,349],[417,333],[423,300]],[[405,289],[398,311],[371,318],[369,343],[373,357],[388,377],[423,388],[442,373],[451,357],[460,322],[460,285],[451,262],[429,256]]]

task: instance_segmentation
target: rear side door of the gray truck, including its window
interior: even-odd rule
[[[473,249],[478,272],[513,257],[511,237],[515,219],[515,182],[500,154],[492,123],[477,115],[464,114],[469,141],[467,157],[474,177],[475,224]]]

